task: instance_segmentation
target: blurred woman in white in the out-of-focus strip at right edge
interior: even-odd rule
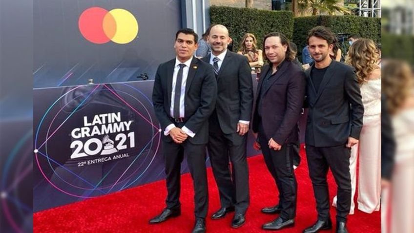
[[[411,233],[414,232],[414,78],[410,66],[402,61],[384,61],[383,67],[383,94],[393,123],[396,151],[391,184],[383,187],[381,232]]]

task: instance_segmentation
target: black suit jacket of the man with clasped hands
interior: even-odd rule
[[[160,121],[161,129],[175,124],[170,116],[172,76],[175,58],[160,64],[155,75],[152,101],[155,114]],[[193,57],[186,80],[185,94],[185,126],[195,133],[194,138],[188,137],[192,144],[206,144],[208,141],[208,117],[214,110],[217,98],[217,83],[211,65]],[[164,136],[171,142],[170,136]]]

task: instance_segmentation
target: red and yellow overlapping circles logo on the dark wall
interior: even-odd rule
[[[125,44],[138,35],[137,19],[120,8],[110,11],[101,7],[88,8],[82,12],[78,24],[83,37],[97,44],[109,41]]]

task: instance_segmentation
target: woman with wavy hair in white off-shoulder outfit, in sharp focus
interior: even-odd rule
[[[381,69],[378,53],[371,39],[352,43],[345,63],[353,66],[361,87],[364,118],[359,143],[352,148],[350,172],[352,199],[355,204],[356,164],[359,152],[358,209],[366,213],[379,211],[381,196]],[[333,206],[336,206],[334,198]]]

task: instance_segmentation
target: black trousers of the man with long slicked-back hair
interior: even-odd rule
[[[284,220],[296,216],[297,182],[293,173],[294,144],[284,144],[280,150],[270,149],[270,138],[265,136],[261,122],[259,123],[259,143],[270,174],[279,190],[280,217]]]

